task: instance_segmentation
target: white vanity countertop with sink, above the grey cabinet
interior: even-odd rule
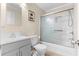
[[[31,36],[20,36],[20,37],[16,37],[16,38],[1,38],[1,43],[0,45],[3,44],[8,44],[8,43],[12,43],[12,42],[17,42],[20,40],[26,40],[26,39],[30,39],[32,37],[35,37],[36,35],[31,35]]]

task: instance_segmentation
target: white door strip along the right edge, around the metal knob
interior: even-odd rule
[[[75,4],[75,27],[77,28],[75,31],[76,31],[76,39],[79,40],[79,4]],[[77,46],[77,55],[79,56],[79,46],[76,44]]]

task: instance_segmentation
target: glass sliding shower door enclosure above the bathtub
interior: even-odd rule
[[[73,10],[41,17],[41,40],[74,47]]]

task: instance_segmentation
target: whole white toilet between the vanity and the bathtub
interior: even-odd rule
[[[33,56],[44,56],[46,52],[46,45],[40,43],[40,39],[37,36],[31,38],[32,48],[35,49]]]

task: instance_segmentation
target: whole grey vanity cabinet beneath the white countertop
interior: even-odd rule
[[[31,56],[30,39],[25,39],[1,46],[2,56]]]

